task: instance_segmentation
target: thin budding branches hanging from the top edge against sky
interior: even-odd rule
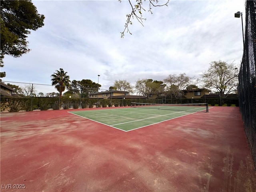
[[[118,0],[119,2],[122,2],[122,0]],[[129,32],[130,34],[132,34],[128,28],[129,25],[132,25],[132,21],[131,18],[134,19],[136,18],[138,20],[138,22],[140,22],[140,24],[143,23],[143,21],[146,20],[146,18],[143,18],[142,16],[142,11],[146,11],[146,9],[142,6],[142,2],[145,2],[146,0],[136,0],[135,4],[132,4],[131,0],[128,0],[131,8],[132,8],[132,12],[130,14],[126,15],[126,23],[124,25],[124,31],[121,32],[121,38],[124,38],[124,32],[126,31],[127,33]],[[168,6],[168,2],[169,0],[165,3],[165,4],[158,4],[158,0],[149,0],[149,12],[151,14],[153,14],[152,12],[152,7],[160,7],[160,6]],[[143,24],[142,24],[143,26]]]

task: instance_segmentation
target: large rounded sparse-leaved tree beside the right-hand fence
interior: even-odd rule
[[[213,61],[210,67],[202,74],[202,82],[209,89],[216,89],[222,98],[236,90],[237,70],[234,63],[228,64],[224,61]]]

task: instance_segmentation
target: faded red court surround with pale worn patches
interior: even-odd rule
[[[68,111],[1,114],[2,192],[256,192],[238,107],[130,132]]]

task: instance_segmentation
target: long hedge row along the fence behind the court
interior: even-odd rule
[[[18,112],[20,110],[31,111],[40,110],[58,110],[60,108],[68,109],[93,108],[96,107],[118,107],[130,106],[131,102],[140,103],[158,103],[158,104],[186,104],[186,103],[208,103],[211,106],[239,106],[238,98],[210,98],[210,99],[92,99],[92,98],[53,98],[53,97],[26,97],[26,98],[1,98],[1,112]],[[59,104],[60,102],[60,104]]]

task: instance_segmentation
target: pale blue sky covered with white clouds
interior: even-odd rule
[[[142,26],[132,20],[128,0],[32,0],[45,16],[44,26],[28,35],[27,54],[5,56],[3,82],[51,84],[51,75],[63,68],[70,80],[90,79],[108,90],[115,80],[164,80],[186,73],[200,78],[212,61],[240,66],[243,51],[243,0],[170,0],[153,7],[143,1]],[[135,4],[135,1],[132,1]],[[166,1],[160,0],[158,4]],[[100,75],[98,77],[98,75]],[[25,84],[10,83],[20,86]],[[35,85],[38,92],[57,92],[53,86]]]

